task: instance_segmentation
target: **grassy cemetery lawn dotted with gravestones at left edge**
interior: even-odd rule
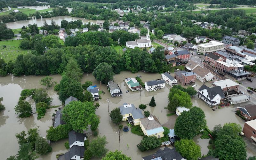
[[[19,54],[27,54],[30,50],[22,50],[19,48],[21,40],[0,41],[0,58],[5,62],[15,60]],[[4,45],[6,46],[4,48]]]

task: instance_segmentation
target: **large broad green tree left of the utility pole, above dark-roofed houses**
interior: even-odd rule
[[[93,128],[98,127],[100,123],[92,102],[72,101],[63,108],[62,113],[62,120],[77,132],[87,130],[90,124],[93,124]]]

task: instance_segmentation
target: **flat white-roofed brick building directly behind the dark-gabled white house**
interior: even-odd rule
[[[223,92],[229,92],[229,91],[237,91],[239,84],[236,82],[230,80],[230,79],[224,79],[220,81],[213,82],[213,87],[220,86]]]

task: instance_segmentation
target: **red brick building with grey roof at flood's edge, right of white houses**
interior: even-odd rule
[[[177,79],[183,85],[194,84],[196,81],[196,73],[178,71],[178,72],[175,72],[175,79]]]

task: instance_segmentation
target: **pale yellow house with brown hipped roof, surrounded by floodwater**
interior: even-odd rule
[[[150,115],[149,117],[140,118],[140,128],[145,136],[156,136],[157,138],[164,137],[164,128],[156,116]]]

